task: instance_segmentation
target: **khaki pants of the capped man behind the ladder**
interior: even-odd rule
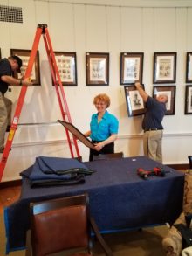
[[[11,106],[11,100],[3,97],[2,93],[0,92],[0,153],[3,153],[4,135],[7,125],[10,125]]]

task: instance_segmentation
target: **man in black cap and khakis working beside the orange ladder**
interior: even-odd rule
[[[9,58],[0,60],[0,153],[4,149],[4,135],[7,128],[10,126],[10,114],[12,102],[4,97],[9,85],[12,86],[31,86],[29,79],[17,80],[13,77],[14,72],[20,72],[22,59],[13,55]]]

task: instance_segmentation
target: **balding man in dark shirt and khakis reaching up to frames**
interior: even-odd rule
[[[161,122],[167,111],[168,96],[160,94],[156,98],[152,98],[143,90],[140,83],[136,82],[134,85],[146,103],[146,113],[142,121],[144,155],[162,163],[163,127]]]

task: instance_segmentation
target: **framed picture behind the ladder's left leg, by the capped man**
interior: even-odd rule
[[[31,55],[31,50],[10,49],[10,55],[17,55],[22,59],[21,73],[15,73],[17,79],[24,77]],[[39,69],[39,53],[37,52],[35,61],[32,66],[31,80],[34,86],[40,86],[40,69]]]

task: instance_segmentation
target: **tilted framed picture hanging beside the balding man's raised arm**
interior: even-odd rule
[[[144,85],[142,85],[143,89]],[[128,116],[145,114],[146,108],[140,93],[134,85],[124,86]]]

